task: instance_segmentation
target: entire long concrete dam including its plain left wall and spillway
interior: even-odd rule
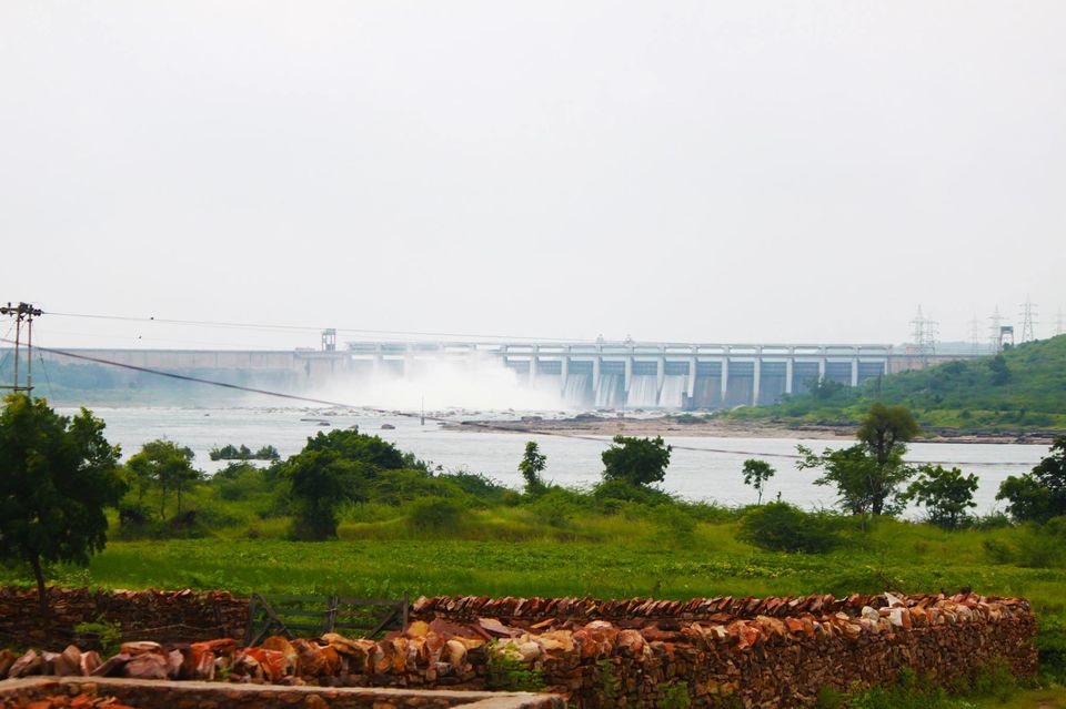
[[[329,333],[329,331],[326,331]],[[71,364],[59,351],[38,351]],[[161,369],[245,386],[310,391],[333,383],[411,379],[442,365],[476,377],[502,368],[520,387],[552,394],[573,408],[721,409],[773,404],[818,382],[859,386],[868,379],[966,355],[877,344],[692,344],[653,342],[386,342],[322,350],[66,350],[131,367]],[[131,376],[138,373],[121,373]]]

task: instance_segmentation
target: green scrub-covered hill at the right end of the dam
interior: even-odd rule
[[[904,404],[931,428],[1066,429],[1066,335],[1018,345],[999,356],[891,374],[857,389],[829,383],[728,416],[853,423],[874,402]]]

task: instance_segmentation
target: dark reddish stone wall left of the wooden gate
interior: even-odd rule
[[[127,640],[161,637],[169,641],[244,637],[248,599],[225,591],[123,591],[48,589],[50,616],[40,615],[36,588],[0,587],[0,647],[62,649],[77,638],[74,626],[104,620],[122,627]]]

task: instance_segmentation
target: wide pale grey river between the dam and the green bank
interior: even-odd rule
[[[61,409],[70,414],[72,409]],[[440,465],[445,470],[481,473],[505,485],[520,487],[517,463],[525,442],[533,439],[547,456],[544,478],[561,485],[589,485],[600,479],[603,469],[600,454],[609,444],[606,437],[590,440],[561,436],[535,436],[515,433],[473,433],[442,431],[440,425],[418,418],[382,416],[299,408],[109,408],[97,407],[93,413],[107,423],[105,435],[122,446],[123,455],[135,453],[154,438],[168,438],[195,453],[198,467],[213,473],[223,462],[212,462],[208,452],[225,444],[247,445],[253,450],[273,445],[282,456],[300,450],[308,436],[320,431],[359,426],[360,431],[378,434],[410,450],[418,457]],[[479,418],[485,414],[480,413]],[[321,426],[304,418],[324,418],[330,426]],[[383,425],[394,426],[383,429]],[[824,447],[847,445],[839,440],[802,438],[715,438],[668,436],[675,446],[666,470],[663,487],[690,499],[716,500],[724,505],[755,502],[755,493],[743,484],[741,466],[746,458],[763,457],[777,474],[766,487],[767,498],[781,493],[782,499],[803,507],[829,507],[834,495],[829,487],[813,484],[817,474],[795,469],[796,445],[821,450]],[[1047,447],[1022,444],[952,444],[915,443],[907,459],[913,463],[942,463],[974,473],[980,480],[975,495],[976,513],[1002,509],[995,495],[1008,475],[1029,470]]]

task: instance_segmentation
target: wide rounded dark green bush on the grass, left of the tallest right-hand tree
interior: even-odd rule
[[[770,503],[741,519],[737,536],[774,551],[822,554],[841,545],[837,520],[826,513],[807,513],[788,503]]]

